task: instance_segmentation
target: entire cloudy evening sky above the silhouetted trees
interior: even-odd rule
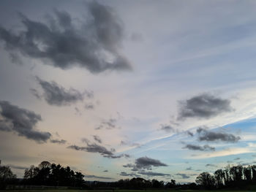
[[[256,1],[0,1],[0,159],[187,183],[256,163]]]

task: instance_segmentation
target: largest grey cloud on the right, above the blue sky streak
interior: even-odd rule
[[[204,93],[180,102],[178,120],[185,118],[212,118],[222,112],[230,112],[230,100]]]

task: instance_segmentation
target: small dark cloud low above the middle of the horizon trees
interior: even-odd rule
[[[150,169],[152,166],[167,166],[167,164],[163,164],[157,159],[148,158],[146,156],[135,160],[135,167],[137,169]]]

